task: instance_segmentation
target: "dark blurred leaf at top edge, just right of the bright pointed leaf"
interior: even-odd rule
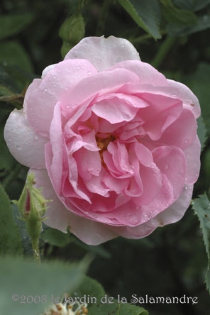
[[[160,0],[165,19],[172,24],[191,26],[197,23],[197,16],[189,10],[178,9],[172,0]]]

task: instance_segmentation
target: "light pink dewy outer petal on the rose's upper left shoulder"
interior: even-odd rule
[[[95,68],[87,60],[65,60],[49,70],[38,89],[27,99],[28,121],[35,131],[48,133],[57,101],[79,81],[94,73]]]

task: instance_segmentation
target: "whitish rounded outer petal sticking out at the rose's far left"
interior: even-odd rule
[[[45,168],[45,143],[49,139],[35,133],[23,110],[11,112],[4,128],[4,138],[18,162],[28,167]]]

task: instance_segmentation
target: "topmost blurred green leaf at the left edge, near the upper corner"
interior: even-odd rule
[[[20,33],[33,21],[30,13],[16,13],[0,16],[0,40]]]

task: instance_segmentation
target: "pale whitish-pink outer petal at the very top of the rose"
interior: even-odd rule
[[[84,38],[65,56],[65,60],[82,58],[89,60],[98,71],[123,60],[140,60],[136,48],[128,40],[114,36]]]

